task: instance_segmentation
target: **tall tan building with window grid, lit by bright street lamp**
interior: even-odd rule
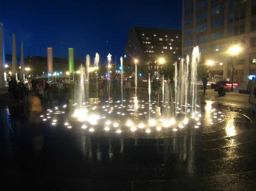
[[[209,65],[211,80],[222,78],[247,84],[256,73],[255,0],[183,0],[182,56],[198,46]],[[233,56],[229,49],[238,46]],[[233,65],[232,65],[233,64]]]

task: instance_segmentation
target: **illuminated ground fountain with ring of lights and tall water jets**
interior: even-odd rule
[[[108,54],[107,58],[108,65],[111,66],[111,54]],[[160,91],[162,94],[158,96],[158,101],[154,97],[151,97],[150,74],[148,79],[148,99],[137,100],[135,95],[135,98],[124,100],[122,95],[121,100],[120,97],[113,96],[109,97],[108,100],[100,101],[100,99],[88,98],[90,57],[87,55],[86,67],[81,65],[79,68],[80,75],[78,83],[76,83],[74,104],[73,106],[71,105],[71,109],[73,108],[75,110],[73,115],[75,118],[65,116],[60,123],[63,123],[64,127],[66,124],[69,124],[69,128],[72,128],[73,123],[77,128],[79,126],[83,129],[85,129],[84,127],[88,127],[90,132],[97,130],[111,131],[112,133],[127,132],[127,127],[131,128],[129,131],[135,133],[159,132],[163,128],[170,128],[173,131],[177,131],[178,128],[188,128],[188,125],[189,127],[195,125],[195,128],[199,128],[201,125],[200,120],[204,118],[204,114],[200,111],[200,105],[198,104],[199,96],[197,96],[195,83],[197,63],[199,60],[200,53],[198,47],[196,47],[194,48],[191,62],[187,58],[187,62],[184,62],[184,60],[180,61],[179,67],[175,63],[175,80],[168,79],[168,82],[165,82],[165,76],[162,76]],[[123,84],[122,57],[120,61]],[[95,67],[97,67],[97,62],[95,61]],[[109,68],[108,74],[110,73]],[[191,68],[190,72],[188,72],[189,68]],[[63,106],[63,108],[65,107],[67,105]],[[56,119],[58,118],[57,115],[65,113],[61,109],[55,109],[58,112],[51,113],[51,110],[47,111],[49,112],[49,117],[51,115],[51,117]],[[219,120],[218,122],[223,120],[221,112],[216,113],[214,117],[219,118],[217,119]],[[78,120],[72,120],[77,118]],[[47,122],[47,118],[42,117],[42,119]],[[213,120],[215,118],[211,119],[211,123],[213,123]],[[58,121],[54,123],[57,124]]]

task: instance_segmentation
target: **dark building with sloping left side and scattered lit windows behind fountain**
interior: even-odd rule
[[[127,38],[123,62],[128,64],[130,72],[135,71],[135,60],[138,65],[148,65],[151,74],[161,68],[159,59],[172,56],[178,61],[182,56],[182,31],[133,27]]]

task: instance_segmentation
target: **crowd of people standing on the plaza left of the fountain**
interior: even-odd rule
[[[40,86],[41,85],[41,86]],[[42,84],[39,85],[38,79],[34,77],[32,80],[28,80],[27,84],[24,84],[24,80],[20,79],[19,83],[17,83],[14,77],[10,78],[9,81],[9,89],[10,98],[17,99],[19,98],[19,102],[29,102],[29,96],[39,96],[41,100],[47,100],[49,93],[49,100],[52,100],[53,87],[52,84],[45,81],[43,79]],[[62,91],[64,89],[63,83],[61,80],[57,82],[56,87],[58,88],[59,99],[62,98]],[[65,89],[66,99],[69,99],[69,87],[66,85]]]

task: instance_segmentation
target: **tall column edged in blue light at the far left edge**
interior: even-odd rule
[[[7,86],[6,72],[5,72],[5,39],[3,23],[0,22],[0,88]]]

